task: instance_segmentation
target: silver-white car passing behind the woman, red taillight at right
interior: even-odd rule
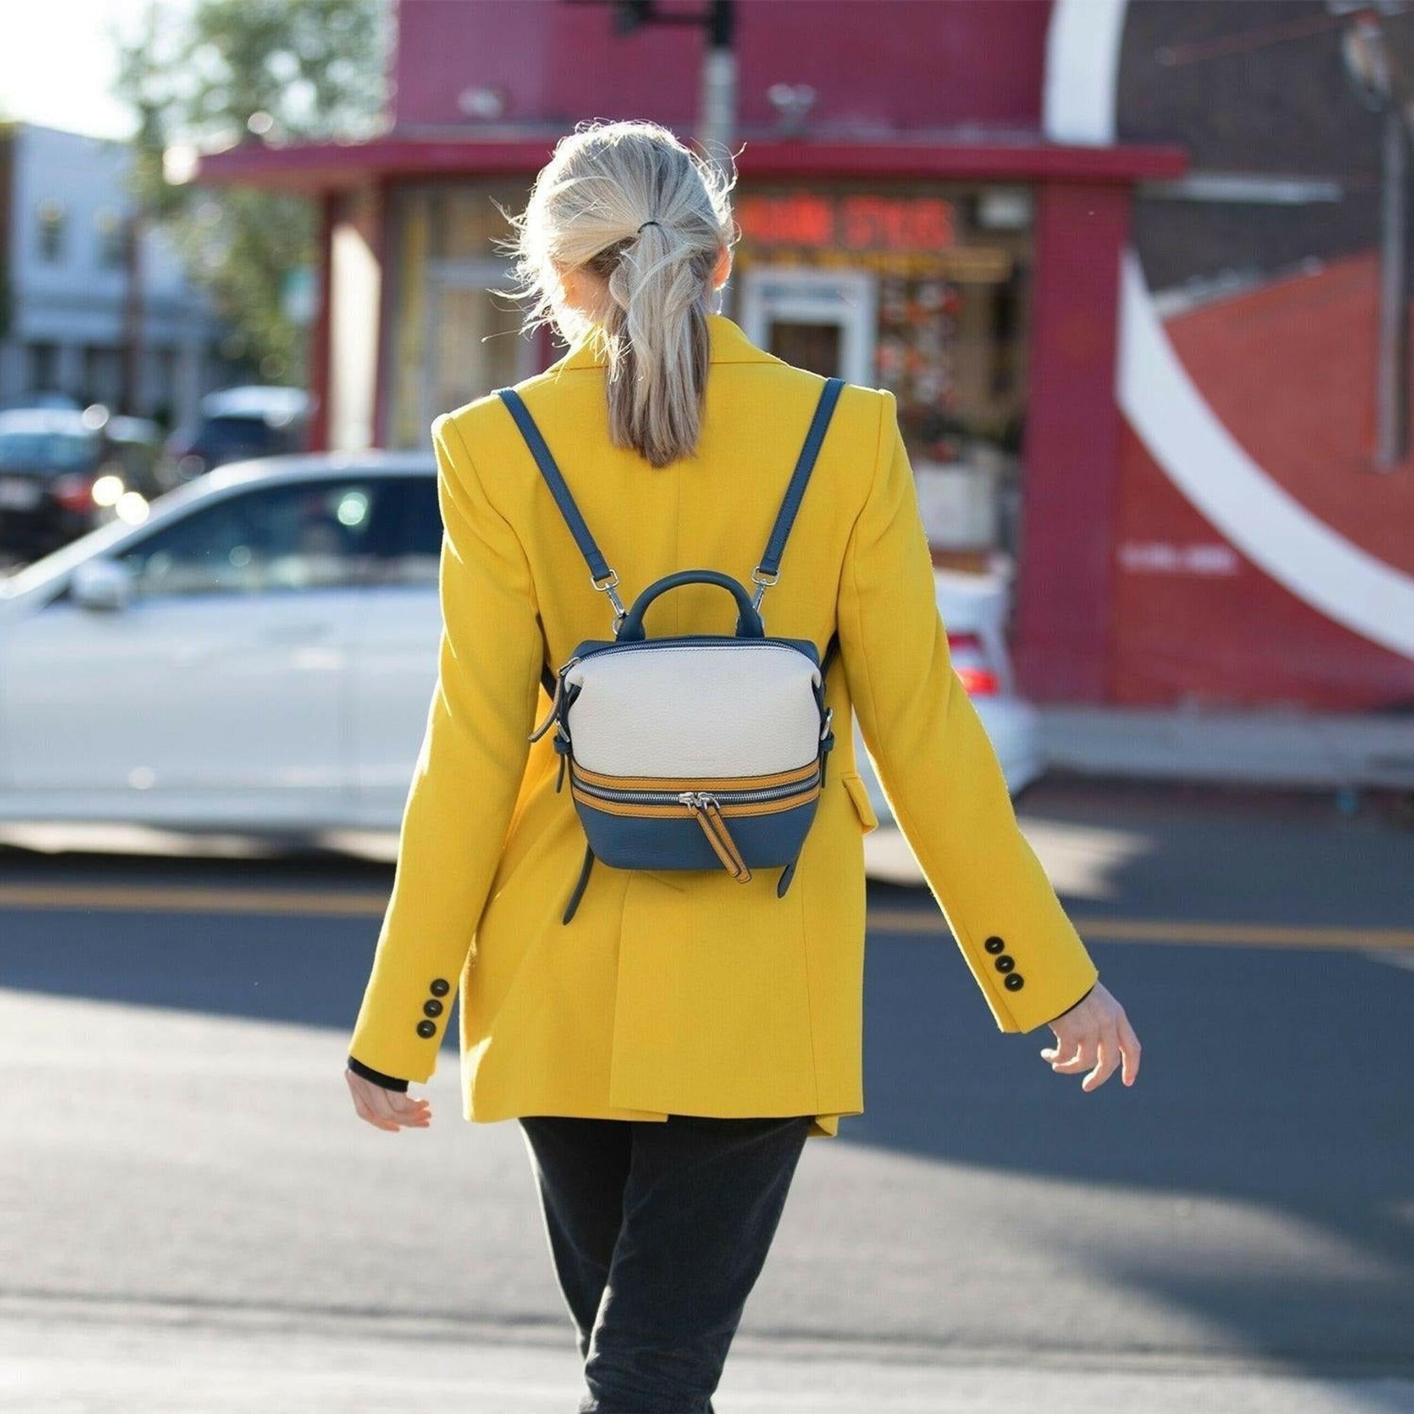
[[[0,580],[0,820],[396,830],[440,551],[431,458],[310,454],[221,467]],[[1000,608],[950,578],[954,663],[1019,789],[1039,749]]]

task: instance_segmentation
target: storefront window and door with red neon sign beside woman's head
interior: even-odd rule
[[[887,387],[935,554],[1012,553],[1027,404],[1031,198],[1017,187],[738,191],[724,308],[790,363]]]

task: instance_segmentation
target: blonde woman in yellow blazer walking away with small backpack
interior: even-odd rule
[[[863,1111],[854,717],[997,1027],[1085,1090],[1138,1072],[949,662],[895,399],[720,312],[730,189],[583,124],[513,218],[570,348],[431,424],[438,679],[349,1042],[358,1114],[426,1127],[458,988],[581,1414],[711,1410],[806,1138]]]

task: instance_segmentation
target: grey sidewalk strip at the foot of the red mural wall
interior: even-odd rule
[[[1282,789],[1414,790],[1414,714],[1041,707],[1051,768]]]

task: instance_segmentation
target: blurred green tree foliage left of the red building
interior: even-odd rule
[[[270,382],[304,383],[305,337],[281,305],[318,259],[305,195],[170,180],[182,154],[235,144],[366,139],[383,127],[392,0],[153,0],[120,47],[117,93],[137,120],[133,195],[211,291],[223,348]]]

